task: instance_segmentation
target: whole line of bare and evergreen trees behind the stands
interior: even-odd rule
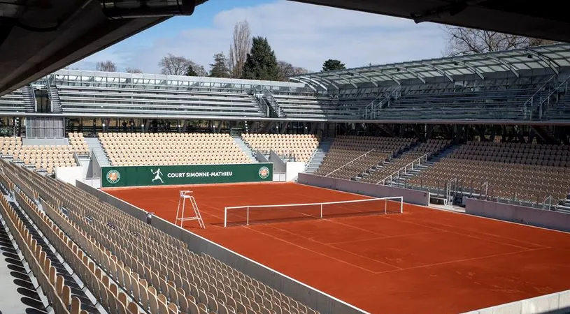
[[[447,36],[446,57],[464,54],[485,53],[499,50],[532,47],[553,43],[550,40],[508,35],[494,31],[468,29],[465,27],[444,27]],[[369,64],[371,65],[371,63]],[[213,62],[204,66],[183,56],[167,54],[158,63],[160,72],[165,75],[187,75],[208,77],[229,77],[247,80],[285,81],[287,77],[308,73],[306,68],[293,66],[291,63],[279,60],[275,51],[269,45],[267,38],[252,37],[248,21],[238,22],[229,52],[213,55]],[[96,65],[97,70],[115,72],[113,61],[102,61]],[[322,63],[322,71],[342,70],[345,64],[337,59],[328,59]],[[128,73],[142,73],[138,68],[127,68]]]

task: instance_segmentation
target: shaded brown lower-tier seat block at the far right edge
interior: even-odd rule
[[[413,186],[441,188],[450,180],[503,199],[542,202],[566,198],[570,188],[570,147],[561,145],[469,142],[408,180]],[[487,186],[483,186],[487,183]]]

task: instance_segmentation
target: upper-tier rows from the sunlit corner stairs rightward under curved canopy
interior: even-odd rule
[[[548,76],[343,90],[338,95],[273,94],[285,117],[383,120],[525,119],[524,104]],[[388,98],[390,100],[388,100]],[[386,99],[382,103],[378,100]],[[371,107],[375,103],[375,108]]]

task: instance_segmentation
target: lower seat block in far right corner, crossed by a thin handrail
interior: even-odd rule
[[[399,154],[415,142],[410,138],[340,136],[314,174],[338,179],[352,179],[394,154]]]

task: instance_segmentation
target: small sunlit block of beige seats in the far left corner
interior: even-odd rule
[[[71,135],[73,136],[73,135]],[[14,161],[35,167],[36,170],[45,170],[48,173],[55,171],[55,167],[76,166],[73,152],[88,155],[87,144],[83,136],[70,138],[71,145],[22,145],[20,137],[0,137],[2,156],[10,156]]]

